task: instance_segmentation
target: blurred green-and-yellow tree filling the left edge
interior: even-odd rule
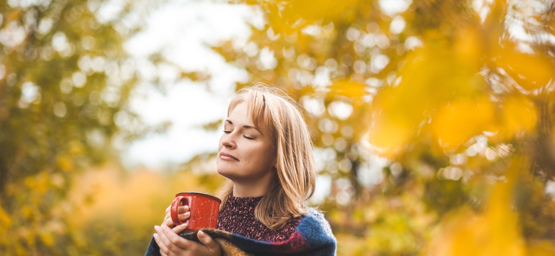
[[[137,83],[122,43],[140,24],[133,2],[102,16],[101,1],[0,3],[0,254],[64,255],[73,179],[115,154],[115,134],[145,127],[128,109]],[[136,13],[135,13],[136,14]],[[85,200],[86,201],[86,200]]]

